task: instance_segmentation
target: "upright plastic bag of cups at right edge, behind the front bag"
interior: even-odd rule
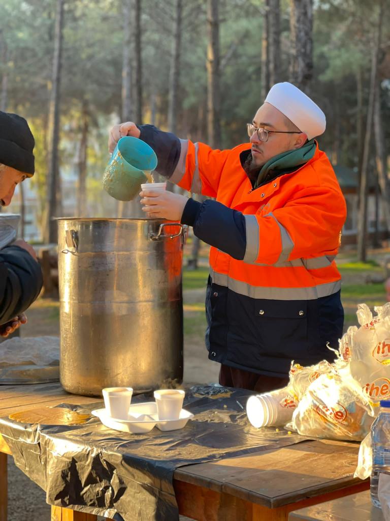
[[[390,400],[390,303],[374,311],[373,317],[366,304],[359,304],[360,327],[348,329],[340,341],[340,352],[349,358],[349,374],[359,382],[377,415],[379,402]]]

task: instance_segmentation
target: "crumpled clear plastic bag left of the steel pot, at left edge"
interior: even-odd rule
[[[10,338],[0,343],[0,367],[58,365],[58,337]]]

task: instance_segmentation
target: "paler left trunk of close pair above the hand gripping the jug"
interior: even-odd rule
[[[132,0],[123,0],[122,121],[132,121]]]

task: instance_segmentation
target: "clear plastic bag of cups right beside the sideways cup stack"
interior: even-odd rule
[[[331,368],[310,383],[292,417],[301,435],[361,441],[373,421],[373,408],[360,385]]]

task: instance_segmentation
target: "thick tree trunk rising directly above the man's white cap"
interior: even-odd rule
[[[310,93],[313,78],[313,0],[291,0],[290,81]]]

